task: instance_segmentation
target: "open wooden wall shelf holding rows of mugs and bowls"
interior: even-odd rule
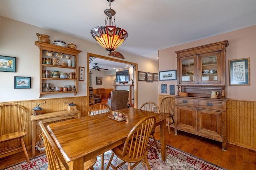
[[[42,96],[42,94],[56,94],[56,93],[74,93],[76,95],[77,93],[77,79],[78,79],[78,73],[77,73],[77,57],[78,53],[81,51],[77,49],[71,49],[67,47],[61,47],[58,45],[53,45],[53,44],[48,44],[48,43],[42,43],[42,42],[35,42],[35,45],[39,48],[40,50],[40,93],[39,97]],[[52,53],[52,57],[46,56],[46,53],[50,51]],[[56,57],[56,53],[62,54],[62,58]],[[67,66],[67,65],[53,65],[52,63],[50,64],[45,64],[43,63],[43,58],[58,58],[60,63],[67,63],[67,56],[70,56],[70,60],[75,62],[75,65],[72,67]],[[42,70],[49,70],[50,75],[52,74],[53,70],[56,70],[58,72],[65,72],[69,73],[72,72],[74,73],[74,77],[72,78],[52,78],[50,77],[43,77],[42,76]],[[44,87],[42,87],[42,84],[51,84],[51,86],[57,86],[57,87],[64,87],[66,85],[72,85],[75,86],[74,91],[55,91],[55,90],[45,90]]]

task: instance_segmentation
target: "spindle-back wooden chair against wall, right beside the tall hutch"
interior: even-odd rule
[[[168,96],[163,98],[160,104],[160,114],[169,115],[172,117],[172,122],[170,123],[169,117],[167,118],[167,125],[168,125],[168,133],[170,134],[170,125],[174,124],[174,97]]]

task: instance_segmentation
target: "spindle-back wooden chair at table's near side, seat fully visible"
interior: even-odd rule
[[[114,170],[117,170],[120,166],[128,162],[128,170],[133,169],[140,162],[142,162],[145,166],[147,165],[150,170],[150,166],[147,159],[148,154],[148,139],[150,133],[154,129],[156,122],[156,118],[154,116],[147,116],[140,120],[130,131],[125,142],[118,147],[112,149],[112,155],[108,162],[108,166],[106,170],[108,170],[109,166]],[[114,154],[120,158],[123,162],[118,166],[114,166],[111,164]],[[135,163],[135,164],[131,164]]]

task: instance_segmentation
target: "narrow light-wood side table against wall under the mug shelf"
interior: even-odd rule
[[[81,111],[79,110],[61,110],[61,111],[54,111],[49,113],[44,113],[41,115],[30,115],[30,119],[32,121],[32,157],[35,157],[36,152],[36,125],[39,125],[39,122],[42,121],[43,123],[51,122],[51,121],[58,121],[63,119],[69,118],[79,118],[81,117]]]

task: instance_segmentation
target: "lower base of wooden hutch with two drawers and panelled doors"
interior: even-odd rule
[[[227,99],[175,96],[175,129],[222,142],[227,149]]]

